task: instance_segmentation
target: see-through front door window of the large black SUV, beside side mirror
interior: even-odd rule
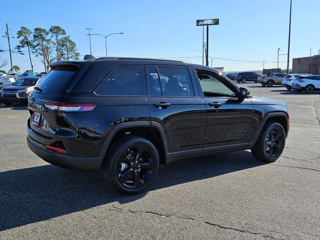
[[[235,93],[222,83],[217,74],[197,71],[204,96],[235,96]]]

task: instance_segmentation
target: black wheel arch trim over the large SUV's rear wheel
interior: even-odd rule
[[[107,134],[99,155],[106,155],[112,141],[120,136],[129,134],[141,136],[150,140],[158,149],[160,164],[165,164],[168,148],[164,130],[159,123],[150,121],[125,122],[114,126]]]

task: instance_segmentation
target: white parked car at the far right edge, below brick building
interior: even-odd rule
[[[320,75],[300,75],[292,81],[292,88],[305,92],[320,90]]]

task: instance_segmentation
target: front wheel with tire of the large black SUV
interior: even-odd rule
[[[284,145],[285,131],[283,126],[278,122],[267,121],[252,147],[251,153],[260,161],[274,162],[280,157]]]

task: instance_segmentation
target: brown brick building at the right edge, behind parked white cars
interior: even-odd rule
[[[298,57],[292,59],[293,73],[320,74],[320,55]]]

